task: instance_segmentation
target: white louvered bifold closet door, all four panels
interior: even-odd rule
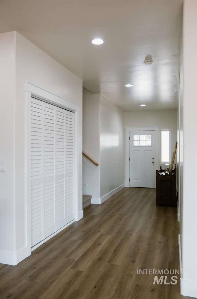
[[[32,246],[74,219],[74,113],[32,98]]]

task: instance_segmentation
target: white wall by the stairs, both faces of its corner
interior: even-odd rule
[[[83,194],[102,204],[124,187],[124,112],[101,94],[83,88]]]

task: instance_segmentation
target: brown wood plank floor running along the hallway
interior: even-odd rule
[[[155,207],[155,189],[124,188],[17,266],[0,264],[0,298],[187,298],[179,279],[154,285],[154,275],[137,275],[179,269],[178,234],[177,209]]]

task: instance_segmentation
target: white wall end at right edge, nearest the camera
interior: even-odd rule
[[[197,1],[183,9],[183,232],[181,293],[197,297]],[[181,103],[180,103],[181,104]]]

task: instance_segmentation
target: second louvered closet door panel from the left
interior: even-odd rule
[[[43,238],[55,232],[55,106],[43,103]]]

